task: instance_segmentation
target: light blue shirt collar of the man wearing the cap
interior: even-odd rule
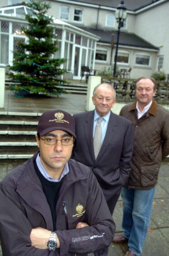
[[[59,182],[69,172],[69,166],[68,166],[68,163],[66,162],[63,172],[61,173],[61,177],[58,180],[56,178],[51,177],[49,175],[49,173],[47,172],[47,170],[43,167],[41,159],[40,159],[40,153],[38,153],[36,162],[37,162],[39,171],[42,173],[43,177],[45,177],[47,180],[52,181],[52,182]]]

